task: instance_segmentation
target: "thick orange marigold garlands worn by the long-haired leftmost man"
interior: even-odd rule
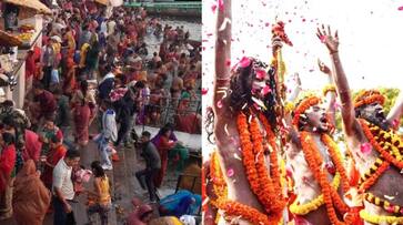
[[[266,121],[262,123],[266,131],[268,129],[270,130]],[[212,155],[210,172],[218,198],[211,200],[211,203],[218,208],[223,209],[226,215],[240,216],[252,224],[278,224],[282,219],[282,211],[286,203],[282,194],[279,194],[281,193],[281,184],[274,133],[271,130],[268,132],[268,141],[273,150],[270,152],[272,176],[269,176],[264,161],[263,136],[258,120],[252,117],[251,123],[248,124],[246,116],[241,113],[238,116],[236,124],[242,150],[242,163],[245,167],[248,181],[252,192],[256,195],[269,215],[251,206],[226,198],[226,185],[222,178],[223,175],[216,158],[216,153]]]

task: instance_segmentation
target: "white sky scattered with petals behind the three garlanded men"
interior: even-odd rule
[[[202,79],[209,89],[204,109],[212,99],[215,3],[203,0]],[[322,23],[339,30],[340,55],[352,89],[403,89],[403,10],[397,10],[402,6],[403,0],[232,0],[231,62],[244,55],[270,62],[271,28],[278,16],[293,42],[283,48],[288,74],[299,72],[303,89],[321,90],[328,81],[316,65],[318,59],[330,65],[328,50],[315,34]],[[203,152],[208,147],[203,135]]]

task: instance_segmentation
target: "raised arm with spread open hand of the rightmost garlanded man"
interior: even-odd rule
[[[354,105],[351,99],[349,82],[339,57],[337,31],[335,31],[334,35],[332,35],[330,27],[328,27],[326,31],[324,25],[322,25],[322,29],[318,28],[316,35],[326,45],[332,59],[332,67],[334,71],[333,81],[336,85],[336,91],[342,104],[341,111],[344,123],[344,132],[346,135],[354,135]]]

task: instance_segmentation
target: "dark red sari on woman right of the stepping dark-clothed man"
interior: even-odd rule
[[[162,184],[162,180],[165,176],[167,168],[168,168],[168,152],[170,150],[172,150],[172,147],[174,145],[175,145],[175,143],[170,141],[167,136],[164,136],[164,135],[160,136],[160,142],[157,145],[157,149],[158,149],[158,152],[160,153],[160,157],[161,157],[161,168],[154,178],[155,187],[160,187]]]

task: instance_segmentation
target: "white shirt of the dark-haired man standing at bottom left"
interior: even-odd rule
[[[74,188],[73,182],[71,181],[71,171],[72,167],[66,164],[64,157],[59,161],[53,170],[53,194],[56,194],[54,187],[58,187],[61,190],[61,193],[66,200],[74,198]]]

